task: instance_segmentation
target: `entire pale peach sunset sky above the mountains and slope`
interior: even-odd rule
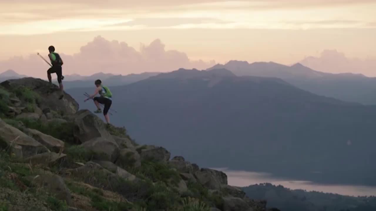
[[[0,72],[7,68],[5,64],[18,61],[39,66],[8,69],[37,74],[36,71],[41,71],[40,61],[29,60],[38,59],[33,57],[36,52],[47,56],[49,45],[66,56],[65,60],[71,59],[76,64],[76,68],[65,68],[67,74],[81,68],[79,71],[85,75],[91,68],[85,67],[88,64],[98,67],[94,65],[98,62],[102,66],[112,63],[111,68],[103,67],[103,72],[114,69],[126,74],[132,72],[130,68],[135,69],[133,72],[150,71],[153,64],[156,69],[171,69],[180,62],[174,56],[184,60],[180,67],[196,65],[198,69],[213,61],[293,64],[310,58],[316,59],[309,62],[317,68],[338,72],[341,69],[332,69],[335,65],[329,68],[317,65],[317,58],[331,51],[362,64],[376,60],[375,9],[376,0],[1,0]],[[103,46],[96,41],[99,38],[118,49],[101,50]],[[136,67],[158,54],[157,51],[150,54],[156,48],[145,50],[145,47],[157,45],[164,52],[164,60],[159,62],[172,60],[174,64],[163,66],[147,60],[143,67]],[[119,48],[133,51],[133,56],[141,55],[142,59],[133,61],[130,68],[115,69],[116,62],[124,63],[118,57],[129,55],[129,52],[122,54],[124,49],[120,52]],[[132,62],[132,57],[126,59]],[[366,65],[361,73],[373,75],[374,70],[370,69]]]

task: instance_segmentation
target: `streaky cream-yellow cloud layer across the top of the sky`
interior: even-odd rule
[[[375,28],[375,9],[374,0],[2,0],[0,34],[169,28]]]

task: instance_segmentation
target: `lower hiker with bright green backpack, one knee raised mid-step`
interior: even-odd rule
[[[108,89],[107,86],[103,86],[102,85],[102,81],[101,80],[96,80],[95,83],[96,85],[96,89],[95,89],[95,92],[94,94],[90,95],[89,98],[85,99],[85,102],[88,101],[89,99],[93,99],[94,100],[94,104],[97,106],[97,110],[94,111],[94,113],[101,113],[102,112],[102,109],[100,109],[100,106],[99,104],[104,104],[105,105],[105,108],[103,109],[103,115],[105,115],[105,119],[106,119],[106,122],[107,124],[110,124],[110,118],[108,116],[108,110],[110,109],[111,107],[111,104],[112,104],[112,93],[110,91],[110,89]],[[96,95],[99,93],[99,97],[96,97]]]

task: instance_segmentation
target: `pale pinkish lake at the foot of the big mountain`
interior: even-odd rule
[[[282,185],[290,189],[302,189],[306,191],[320,191],[324,193],[337,193],[347,196],[376,196],[376,187],[361,185],[330,185],[317,184],[311,181],[293,181],[280,179],[268,173],[234,171],[227,168],[212,168],[226,173],[229,185],[246,187],[260,183]]]

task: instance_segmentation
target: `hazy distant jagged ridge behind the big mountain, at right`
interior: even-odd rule
[[[238,76],[278,77],[309,92],[344,101],[376,104],[376,78],[362,74],[331,74],[312,70],[300,63],[293,66],[274,62],[230,61],[209,69],[226,68]]]

